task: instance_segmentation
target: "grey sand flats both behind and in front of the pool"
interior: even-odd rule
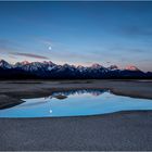
[[[100,88],[152,99],[152,83],[131,80],[0,81],[0,103],[53,91]],[[12,100],[13,98],[13,100]],[[7,101],[7,100],[5,100]],[[4,101],[4,103],[5,103]],[[16,101],[17,102],[17,101]],[[152,111],[62,118],[0,118],[0,150],[152,150]]]

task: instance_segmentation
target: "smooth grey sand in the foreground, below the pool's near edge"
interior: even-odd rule
[[[152,112],[0,119],[0,150],[152,150]]]

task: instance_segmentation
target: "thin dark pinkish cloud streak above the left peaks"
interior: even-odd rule
[[[35,59],[49,59],[49,58],[47,58],[47,56],[37,55],[37,54],[31,54],[31,53],[10,52],[10,54],[20,55],[20,56],[35,58]]]

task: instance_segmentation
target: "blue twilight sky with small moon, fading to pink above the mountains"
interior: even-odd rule
[[[0,59],[152,71],[152,1],[0,1]]]

